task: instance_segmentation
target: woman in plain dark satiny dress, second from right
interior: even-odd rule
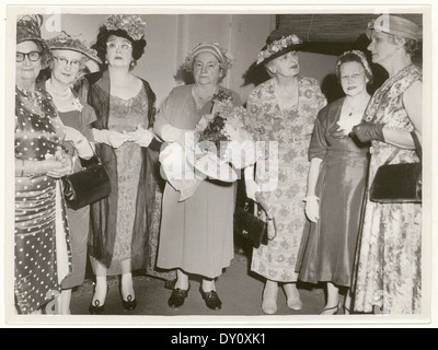
[[[350,288],[369,163],[369,143],[348,135],[370,100],[372,72],[361,51],[347,51],[336,65],[346,94],[318,115],[309,159],[306,214],[297,271],[309,283],[327,283],[322,315],[339,311],[339,287]],[[345,311],[350,308],[347,294]]]

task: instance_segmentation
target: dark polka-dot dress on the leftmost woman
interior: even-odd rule
[[[15,160],[54,156],[64,126],[51,97],[37,89],[33,96],[15,90]],[[60,292],[71,271],[66,208],[57,180],[15,176],[15,306],[30,314]]]

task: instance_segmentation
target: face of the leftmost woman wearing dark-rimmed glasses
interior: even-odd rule
[[[38,55],[32,54],[38,52]],[[42,70],[41,49],[34,42],[23,42],[16,45],[16,60],[24,59],[21,62],[15,62],[16,84],[24,88],[28,84],[34,84],[36,78]]]

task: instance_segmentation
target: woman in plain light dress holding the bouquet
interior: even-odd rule
[[[241,105],[237,93],[219,85],[231,63],[231,55],[219,44],[197,45],[184,63],[195,83],[170,93],[157,115],[154,132],[184,148],[186,135],[193,133],[203,115],[210,113],[215,94],[232,93],[233,104]],[[184,304],[191,287],[188,275],[194,273],[203,277],[199,292],[207,307],[221,307],[215,279],[233,257],[233,185],[207,179],[188,199],[180,201],[180,192],[166,184],[157,265],[177,269],[169,306]]]

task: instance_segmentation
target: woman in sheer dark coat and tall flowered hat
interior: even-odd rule
[[[94,48],[104,62],[87,75],[80,93],[94,108],[93,139],[111,180],[111,195],[91,206],[89,254],[96,276],[91,314],[104,312],[107,276],[120,276],[122,305],[132,311],[132,271],[146,268],[155,210],[155,94],[131,70],[145,52],[146,22],[139,15],[108,15]]]

